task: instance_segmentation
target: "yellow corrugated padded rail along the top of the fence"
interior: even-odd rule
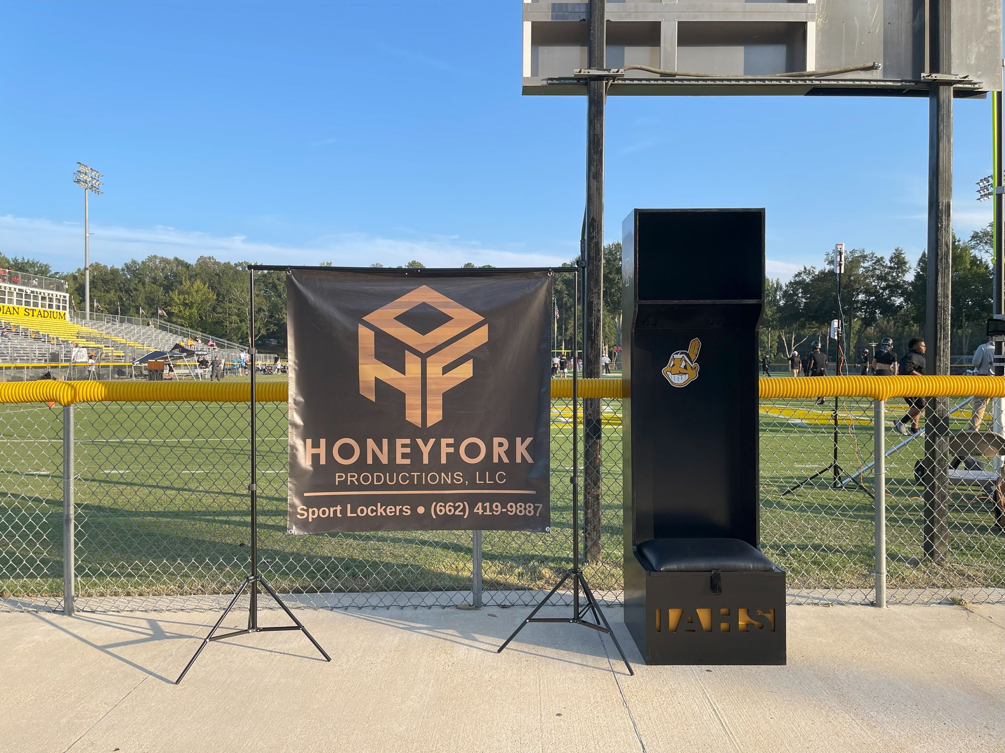
[[[285,382],[259,382],[258,403],[285,403]],[[667,388],[670,389],[670,388]],[[1005,379],[996,376],[800,376],[762,379],[762,400],[802,398],[906,397],[1005,398]],[[582,398],[621,397],[621,380],[579,380]],[[5,403],[247,403],[247,382],[6,382],[0,383]],[[572,398],[572,380],[554,380],[553,398]]]

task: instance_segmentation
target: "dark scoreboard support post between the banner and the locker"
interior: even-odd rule
[[[593,71],[606,68],[606,2],[590,0],[587,64]],[[590,76],[586,86],[586,326],[583,376],[600,378],[603,342],[604,285],[604,119],[607,99],[604,76]],[[573,361],[573,367],[576,364]],[[583,401],[583,531],[584,557],[600,557],[601,405],[599,398]]]

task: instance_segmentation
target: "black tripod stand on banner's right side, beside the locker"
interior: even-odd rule
[[[574,273],[573,290],[579,290],[579,272]],[[572,353],[572,478],[570,482],[572,483],[572,567],[566,570],[565,574],[559,578],[559,582],[555,584],[548,595],[545,596],[538,603],[537,606],[531,611],[527,618],[520,623],[520,625],[513,632],[513,635],[506,640],[506,642],[498,649],[495,650],[496,654],[501,654],[502,650],[510,645],[510,642],[517,638],[517,635],[524,630],[531,622],[565,622],[568,624],[581,624],[584,628],[591,628],[599,633],[605,633],[611,637],[611,641],[614,643],[614,648],[618,650],[618,654],[621,656],[621,661],[625,663],[625,667],[628,669],[629,675],[634,675],[634,671],[631,665],[628,664],[628,659],[625,657],[625,653],[621,650],[621,644],[618,643],[617,637],[614,635],[614,631],[611,630],[611,625],[607,621],[607,617],[604,616],[604,612],[600,608],[600,604],[593,595],[593,591],[590,590],[590,584],[586,580],[586,576],[583,574],[583,568],[580,566],[579,561],[579,380],[578,380],[578,369],[576,368],[576,358],[579,354],[579,295],[575,295],[575,304],[573,305],[573,353]],[[584,353],[585,355],[586,353]],[[559,588],[561,588],[566,582],[572,580],[572,616],[568,617],[536,617],[541,608],[548,603],[548,601],[558,593]],[[585,602],[580,605],[580,592],[579,589],[582,587],[583,596],[585,597]],[[590,611],[593,613],[594,621],[584,619],[586,613]]]

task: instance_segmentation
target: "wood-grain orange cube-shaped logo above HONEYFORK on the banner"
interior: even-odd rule
[[[425,333],[399,320],[402,314],[422,304],[432,306],[449,318]],[[404,393],[405,419],[419,428],[438,423],[443,418],[443,394],[474,373],[474,361],[471,359],[450,370],[446,370],[446,367],[488,341],[487,323],[468,331],[484,321],[479,314],[428,285],[421,285],[368,313],[363,321],[404,345],[405,370],[398,371],[378,360],[375,355],[375,329],[359,324],[360,394],[376,403],[377,380]],[[423,371],[425,395],[422,391]],[[422,420],[423,404],[425,423]]]

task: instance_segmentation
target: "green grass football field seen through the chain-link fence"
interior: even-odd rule
[[[890,402],[889,418],[901,405]],[[795,590],[857,589],[873,582],[871,474],[835,490],[825,475],[783,492],[831,459],[829,407],[812,401],[761,406],[762,542]],[[871,403],[842,403],[839,463],[871,461]],[[616,596],[621,571],[620,402],[605,402],[600,556],[588,576]],[[76,572],[81,596],[231,591],[248,564],[249,442],[246,406],[95,404],[75,412]],[[259,408],[259,552],[280,591],[466,591],[471,534],[464,531],[286,534],[286,411]],[[571,562],[571,428],[553,404],[552,530],[486,532],[486,589],[550,585]],[[963,418],[954,428],[963,428]],[[887,432],[887,449],[901,438]],[[887,463],[890,588],[1005,587],[1005,536],[979,489],[957,489],[950,556],[922,552],[917,441]],[[61,594],[61,411],[0,406],[0,595]]]

